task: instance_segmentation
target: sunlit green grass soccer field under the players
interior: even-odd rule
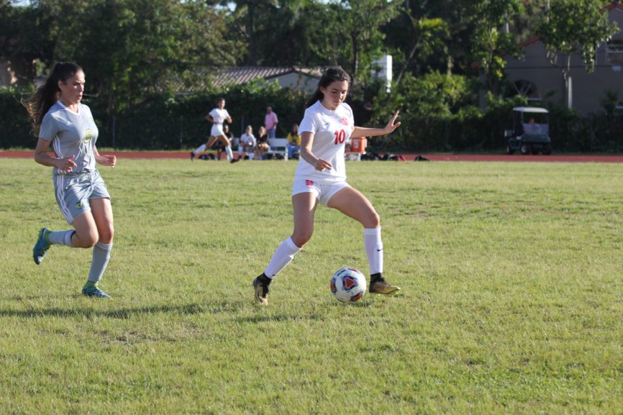
[[[120,160],[101,286],[51,169],[0,160],[1,414],[621,414],[623,165],[347,163],[402,295],[341,304],[368,266],[358,223],[320,206],[305,249],[253,303],[291,232],[296,163]]]

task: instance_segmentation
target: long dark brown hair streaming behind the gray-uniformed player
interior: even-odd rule
[[[58,100],[60,93],[58,82],[64,83],[80,71],[82,71],[82,68],[72,62],[55,64],[46,82],[39,86],[33,95],[21,101],[21,104],[26,107],[28,115],[33,119],[33,131],[37,131],[41,127],[44,116]]]

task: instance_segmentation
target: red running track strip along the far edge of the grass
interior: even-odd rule
[[[188,152],[181,151],[102,151],[118,158],[186,158]],[[404,158],[412,161],[417,154],[403,154]],[[507,154],[421,154],[431,161],[531,161],[531,162],[564,162],[564,163],[623,163],[623,156],[509,156]],[[33,151],[0,151],[0,158],[33,158]]]

